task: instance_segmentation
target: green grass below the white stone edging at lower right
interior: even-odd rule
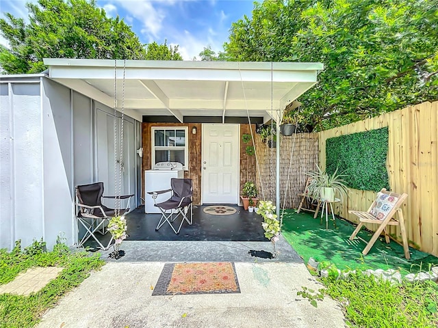
[[[391,285],[367,275],[322,279],[325,295],[337,299],[351,327],[438,327],[438,284]]]

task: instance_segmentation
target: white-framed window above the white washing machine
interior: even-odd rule
[[[188,167],[188,127],[152,128],[152,167],[159,162],[179,162]]]

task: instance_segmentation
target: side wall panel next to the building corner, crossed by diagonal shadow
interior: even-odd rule
[[[56,236],[72,245],[74,236],[72,120],[70,90],[42,79],[44,236],[52,248]]]

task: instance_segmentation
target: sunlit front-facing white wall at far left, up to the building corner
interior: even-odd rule
[[[21,239],[23,245],[29,245],[34,238],[45,237],[42,197],[43,136],[40,83],[7,85],[8,93],[2,93],[0,99],[0,247],[12,248],[14,241],[18,239]]]

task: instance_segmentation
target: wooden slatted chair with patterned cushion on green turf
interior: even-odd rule
[[[409,254],[409,245],[406,236],[406,229],[404,228],[403,213],[402,209],[400,208],[400,206],[407,197],[407,193],[402,193],[401,195],[399,195],[398,193],[391,193],[389,191],[386,191],[386,189],[383,188],[377,193],[376,200],[374,200],[374,202],[371,204],[370,208],[368,208],[366,212],[360,212],[357,210],[348,211],[349,213],[352,213],[359,217],[359,226],[357,226],[356,230],[351,234],[350,241],[355,238],[364,223],[374,223],[380,225],[376,232],[374,232],[370,241],[367,243],[365,249],[363,249],[363,255],[368,254],[368,251],[370,251],[372,245],[374,245],[378,236],[380,236],[382,232],[384,232],[385,234],[386,243],[389,243],[389,234],[387,233],[386,229],[387,226],[400,226],[404,256],[408,260],[409,258],[411,258],[411,255]],[[393,218],[396,213],[398,213],[398,221]]]

